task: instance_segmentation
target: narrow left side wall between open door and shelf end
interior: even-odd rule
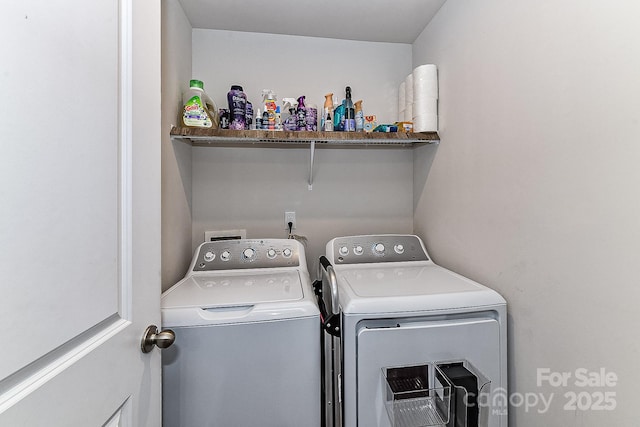
[[[191,24],[178,0],[162,1],[162,289],[182,278],[191,248],[191,146],[171,141],[191,79]]]

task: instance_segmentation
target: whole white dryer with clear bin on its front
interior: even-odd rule
[[[507,312],[497,292],[435,265],[413,235],[335,238],[320,274],[327,426],[507,425]],[[401,419],[398,405],[409,400],[389,396],[390,370],[428,367],[435,390],[435,367],[458,365],[477,378],[478,409],[455,413],[461,389],[451,380],[444,422],[410,420],[422,404]]]

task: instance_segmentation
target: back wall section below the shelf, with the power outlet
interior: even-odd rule
[[[313,277],[333,237],[411,232],[410,149],[316,150],[312,191],[308,162],[305,149],[194,147],[194,246],[206,230],[286,238],[284,212],[295,211]]]

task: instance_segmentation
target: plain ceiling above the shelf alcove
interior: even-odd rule
[[[413,43],[445,0],[180,0],[191,26]]]

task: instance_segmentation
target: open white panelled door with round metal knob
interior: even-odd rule
[[[0,426],[160,425],[160,2],[0,12]]]

